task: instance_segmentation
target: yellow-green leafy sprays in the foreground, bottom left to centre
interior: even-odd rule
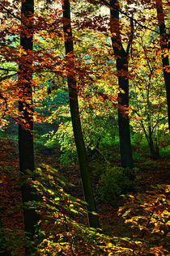
[[[32,182],[40,196],[39,203],[30,203],[40,215],[40,255],[135,255],[123,238],[107,237],[80,222],[87,215],[86,203],[63,190],[71,184],[57,170],[42,165]]]

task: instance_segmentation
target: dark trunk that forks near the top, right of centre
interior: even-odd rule
[[[117,0],[110,0],[111,6],[118,6]],[[118,83],[119,87],[125,93],[119,93],[119,110],[118,110],[118,126],[121,150],[121,166],[123,168],[133,168],[134,162],[132,158],[132,150],[130,143],[130,121],[128,115],[123,114],[121,107],[129,107],[129,79],[128,73],[128,53],[125,52],[121,43],[121,32],[119,28],[119,11],[117,9],[110,10],[111,15],[111,32],[113,51],[117,61]]]

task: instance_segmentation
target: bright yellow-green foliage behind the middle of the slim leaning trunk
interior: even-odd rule
[[[93,151],[96,149],[102,155],[102,147],[113,145],[114,143],[115,135],[117,134],[117,121],[112,115],[109,115],[108,111],[101,107],[98,111],[89,109],[87,103],[81,99],[79,100],[79,108],[82,109],[81,121],[87,150]],[[110,112],[112,113],[112,111]],[[58,129],[57,132],[53,130],[44,135],[47,138],[45,145],[53,147],[56,142],[60,143],[62,151],[61,164],[69,165],[77,158],[69,106],[62,105],[58,107],[53,111],[53,116],[49,117],[49,120],[59,122]],[[57,117],[57,120],[55,117]]]

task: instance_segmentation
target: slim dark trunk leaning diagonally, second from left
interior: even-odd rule
[[[65,48],[66,57],[70,57],[72,61],[69,62],[70,74],[67,75],[67,83],[69,88],[69,98],[70,98],[70,114],[71,121],[74,131],[74,140],[77,147],[78,157],[79,157],[79,169],[83,182],[83,193],[85,200],[87,201],[88,220],[90,227],[99,228],[99,220],[97,215],[93,215],[90,212],[96,211],[96,203],[94,194],[91,186],[91,177],[88,169],[87,163],[87,153],[83,140],[82,127],[79,117],[79,102],[78,102],[78,91],[77,84],[74,79],[74,46],[72,39],[72,30],[70,23],[70,2],[69,0],[63,1],[63,18],[64,18],[64,33],[65,33]]]

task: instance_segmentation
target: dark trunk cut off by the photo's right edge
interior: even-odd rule
[[[157,10],[157,19],[159,24],[159,36],[160,36],[160,46],[163,51],[162,62],[164,68],[164,83],[166,87],[167,94],[167,104],[168,104],[168,127],[170,130],[170,73],[168,72],[169,60],[168,55],[164,57],[164,50],[168,50],[168,34],[166,32],[166,27],[164,23],[164,11],[162,0],[155,0],[156,10]]]

